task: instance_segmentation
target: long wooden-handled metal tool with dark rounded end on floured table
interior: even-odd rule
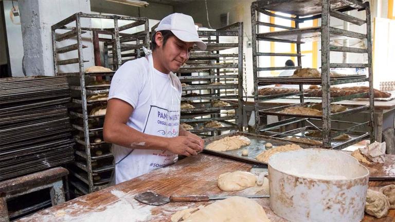
[[[201,201],[209,201],[209,200],[216,200],[216,199],[226,199],[233,196],[240,196],[246,198],[264,198],[269,197],[269,195],[190,195],[190,196],[163,196],[156,194],[151,191],[146,191],[134,196],[134,198],[142,202],[143,204],[148,205],[164,205],[168,202],[201,202]]]

